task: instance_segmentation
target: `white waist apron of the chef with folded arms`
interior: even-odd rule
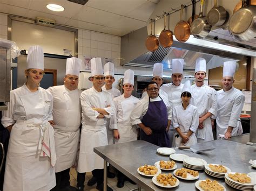
[[[105,145],[107,145],[105,125],[101,128],[89,125],[83,126],[77,171],[83,173],[91,172],[94,169],[103,169],[103,158],[93,152],[93,148]]]

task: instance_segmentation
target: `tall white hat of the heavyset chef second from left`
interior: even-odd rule
[[[66,75],[76,75],[79,76],[79,72],[82,66],[82,60],[79,58],[68,58],[66,59]]]

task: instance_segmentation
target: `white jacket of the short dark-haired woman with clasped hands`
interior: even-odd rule
[[[189,104],[187,108],[184,110],[182,104],[176,106],[173,108],[173,128],[180,128],[180,131],[184,134],[186,134],[189,130],[191,130],[193,133],[190,136],[188,142],[186,145],[192,145],[197,143],[196,138],[196,131],[199,125],[199,115],[197,107],[194,105]],[[177,135],[178,132],[176,132],[174,135]],[[173,139],[173,147],[181,146],[181,140],[182,138],[175,137]]]

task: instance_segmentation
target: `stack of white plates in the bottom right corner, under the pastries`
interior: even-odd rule
[[[239,189],[239,190],[252,190],[253,186],[256,184],[256,180],[253,179],[250,175],[251,178],[251,183],[240,183],[238,181],[234,181],[233,179],[228,177],[228,174],[234,174],[235,172],[230,172],[230,173],[226,173],[225,174],[225,182],[227,183],[227,185],[235,188],[235,189]]]

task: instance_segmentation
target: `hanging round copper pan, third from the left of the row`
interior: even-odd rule
[[[181,43],[185,43],[188,38],[190,38],[190,24],[185,20],[182,20],[184,5],[181,5],[180,8],[180,22],[174,28],[174,36]]]

